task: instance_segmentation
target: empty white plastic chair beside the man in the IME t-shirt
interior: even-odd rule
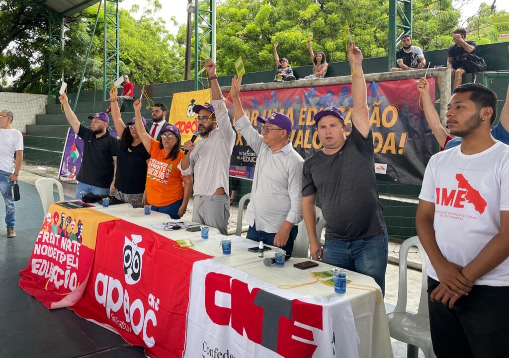
[[[408,313],[407,309],[407,255],[408,250],[416,246],[422,261],[422,282],[417,313]],[[394,312],[387,314],[390,336],[407,343],[407,357],[417,358],[418,348],[426,358],[436,358],[433,353],[430,334],[430,316],[428,312],[428,275],[426,273],[426,252],[417,236],[405,240],[400,248],[400,278],[398,285],[398,303]]]

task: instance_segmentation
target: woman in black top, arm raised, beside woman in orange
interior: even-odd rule
[[[110,102],[115,102],[116,93],[110,91]],[[118,105],[111,106],[111,117],[118,136],[120,137],[120,151],[117,156],[117,166],[110,194],[117,199],[140,207],[146,203],[145,181],[147,180],[147,162],[150,159],[142,140],[139,139],[134,118],[127,123],[127,128],[120,115]],[[142,117],[144,126],[147,121]]]

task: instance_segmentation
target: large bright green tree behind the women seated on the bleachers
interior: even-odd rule
[[[458,25],[450,0],[413,0],[414,43],[424,50],[446,48]],[[365,57],[387,55],[388,2],[383,0],[225,0],[217,6],[216,58],[220,74],[234,74],[242,56],[247,72],[273,68],[273,44],[293,67],[310,65],[306,39],[328,62],[346,60],[346,21]],[[185,45],[186,26],[177,42]]]

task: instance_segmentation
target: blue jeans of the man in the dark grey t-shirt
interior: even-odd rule
[[[327,240],[325,237],[322,261],[373,277],[385,294],[388,245],[387,230],[354,241]]]

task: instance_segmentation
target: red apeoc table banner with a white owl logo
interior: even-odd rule
[[[102,223],[91,279],[74,310],[151,357],[181,357],[193,263],[211,256],[123,220]]]

